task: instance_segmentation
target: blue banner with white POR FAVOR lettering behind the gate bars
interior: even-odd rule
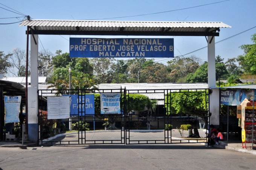
[[[65,94],[62,96],[70,96],[70,115],[78,115],[78,108],[81,115],[93,115],[94,114],[94,94],[85,94],[79,96],[78,94]]]

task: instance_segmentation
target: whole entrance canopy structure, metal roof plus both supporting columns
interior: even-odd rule
[[[208,45],[208,87],[216,86],[215,76],[215,36],[220,28],[230,26],[222,22],[169,22],[169,21],[93,21],[93,20],[27,20],[19,26],[27,26],[27,58],[30,36],[31,87],[26,86],[28,138],[38,139],[38,35],[123,35],[123,36],[205,36]],[[28,63],[27,63],[28,64]],[[28,66],[27,66],[28,67]],[[26,67],[26,68],[27,68]],[[218,101],[219,91],[213,89],[210,101]],[[219,102],[209,103],[212,112],[211,123],[219,122]]]

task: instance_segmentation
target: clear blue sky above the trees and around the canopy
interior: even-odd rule
[[[206,5],[210,3],[214,4]],[[44,0],[36,2],[32,0],[0,0],[0,51],[8,54],[12,52],[12,50],[14,50],[15,48],[26,50],[26,27],[18,26],[19,23],[14,23],[24,19],[24,16],[21,14],[29,15],[33,19],[116,21],[218,21],[232,26],[231,28],[222,28],[220,30],[219,36],[215,38],[215,42],[218,42],[222,39],[229,38],[230,36],[236,35],[245,30],[255,27],[255,7],[256,0]],[[10,11],[7,11],[6,9]],[[177,9],[183,10],[172,11]],[[11,11],[17,12],[18,14]],[[126,17],[133,15],[142,16]],[[221,58],[224,58],[224,61],[227,61],[228,58],[234,58],[238,55],[244,54],[243,50],[239,49],[239,46],[241,46],[242,44],[252,44],[251,35],[254,33],[256,33],[256,27],[248,30],[247,32],[234,36],[233,38],[227,39],[226,41],[217,43],[215,46],[215,55],[220,55]],[[53,54],[56,52],[56,50],[62,50],[62,52],[69,52],[69,37],[69,35],[39,35],[39,51],[45,50],[46,52],[51,52]],[[82,36],[78,35],[71,37]],[[110,36],[87,37],[110,38]],[[111,37],[127,38],[127,36]],[[146,37],[141,36],[141,38]],[[184,57],[189,57],[191,55],[194,55],[202,59],[203,62],[207,61],[207,48],[191,53],[189,55],[184,55],[186,53],[190,53],[194,50],[207,46],[206,38],[204,36],[169,36],[165,38],[174,38],[175,56],[183,55]],[[162,62],[164,64],[166,64],[166,62],[170,60],[172,60],[172,58],[155,58],[156,62]]]

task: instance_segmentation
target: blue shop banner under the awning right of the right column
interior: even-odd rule
[[[240,105],[244,99],[256,101],[256,90],[221,90],[221,104],[236,106]]]

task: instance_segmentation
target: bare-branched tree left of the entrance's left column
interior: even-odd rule
[[[30,59],[29,59],[30,61]],[[12,51],[12,55],[9,56],[8,62],[12,67],[8,69],[9,73],[13,76],[26,76],[26,52],[20,48],[16,48]],[[28,68],[28,75],[30,75],[30,64]]]

